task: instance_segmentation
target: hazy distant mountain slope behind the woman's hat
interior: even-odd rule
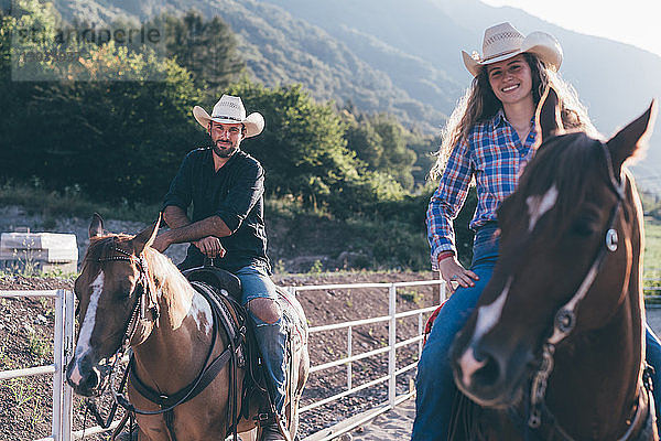
[[[560,40],[562,74],[605,136],[661,97],[661,57],[479,0],[416,0],[414,7],[394,0],[59,0],[56,7],[67,20],[97,25],[120,17],[145,23],[164,10],[181,15],[191,8],[218,15],[237,34],[254,80],[268,87],[302,84],[317,101],[387,112],[431,135],[437,135],[470,80],[459,50],[479,50],[484,29],[506,20],[523,33],[541,30]],[[658,144],[659,129],[648,161],[633,170],[647,190],[661,194]]]

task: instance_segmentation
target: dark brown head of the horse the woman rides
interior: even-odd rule
[[[553,89],[540,101],[538,152],[498,211],[499,259],[451,353],[457,386],[477,404],[517,405],[543,369],[545,388],[555,346],[611,323],[625,303],[640,349],[642,216],[622,164],[651,133],[654,109],[603,142],[564,130]],[[636,380],[640,359],[618,367]]]

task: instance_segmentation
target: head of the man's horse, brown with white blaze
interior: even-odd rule
[[[156,252],[149,245],[158,230],[159,223],[136,236],[104,234],[101,217],[93,217],[89,247],[74,286],[79,331],[66,369],[68,384],[79,395],[100,395],[120,349],[144,342],[156,323],[156,292],[144,255]]]

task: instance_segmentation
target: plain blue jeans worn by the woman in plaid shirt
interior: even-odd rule
[[[470,269],[479,276],[475,287],[458,288],[445,302],[434,321],[418,364],[415,380],[415,420],[412,441],[438,440],[448,437],[453,400],[458,390],[449,364],[449,347],[475,309],[481,291],[491,278],[498,258],[498,241],[492,240],[495,227],[484,227],[475,236]],[[654,401],[661,397],[661,343],[647,326],[647,362],[654,367],[652,376]],[[659,385],[659,386],[657,386]],[[659,422],[659,407],[657,407]]]

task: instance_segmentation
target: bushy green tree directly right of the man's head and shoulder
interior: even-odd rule
[[[230,93],[267,121],[264,132],[242,147],[264,165],[269,195],[292,195],[344,217],[364,204],[401,197],[397,183],[370,172],[347,149],[346,125],[330,104],[314,103],[301,86],[268,89],[243,80]]]

